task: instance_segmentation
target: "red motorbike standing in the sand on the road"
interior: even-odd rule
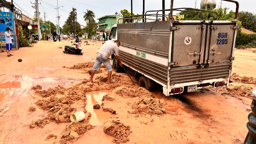
[[[75,55],[82,55],[82,47],[79,43],[79,39],[78,39],[78,35],[75,36],[75,42],[72,45],[76,45],[75,47],[69,46],[69,45],[65,45],[65,49],[64,49],[64,53],[65,54],[75,54]],[[73,42],[71,42],[73,43]]]

